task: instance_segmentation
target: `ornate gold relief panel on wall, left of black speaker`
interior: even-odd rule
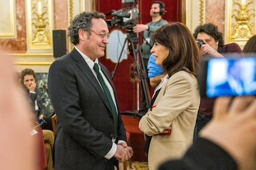
[[[27,0],[28,52],[51,52],[53,49],[53,1]]]

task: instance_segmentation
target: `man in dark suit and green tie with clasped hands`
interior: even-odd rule
[[[126,143],[113,82],[98,62],[108,44],[105,15],[77,15],[68,34],[74,50],[53,62],[48,76],[49,97],[57,115],[54,166],[56,170],[113,170],[118,160],[129,160],[133,150]],[[98,74],[105,86],[95,65],[100,67]]]

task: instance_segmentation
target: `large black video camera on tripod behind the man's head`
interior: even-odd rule
[[[136,0],[122,0],[122,4],[135,4]],[[108,12],[109,13],[109,12]],[[136,25],[136,21],[139,20],[139,9],[135,7],[127,7],[119,10],[112,10],[110,14],[113,15],[111,20],[106,20],[109,28],[119,25],[121,28],[126,28],[127,30],[132,30]]]

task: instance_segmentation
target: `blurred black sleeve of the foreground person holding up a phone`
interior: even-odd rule
[[[237,163],[223,148],[210,140],[198,138],[180,160],[169,160],[159,170],[235,170]]]

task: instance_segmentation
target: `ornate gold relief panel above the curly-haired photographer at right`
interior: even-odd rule
[[[255,34],[255,0],[226,0],[225,41],[244,46]]]

